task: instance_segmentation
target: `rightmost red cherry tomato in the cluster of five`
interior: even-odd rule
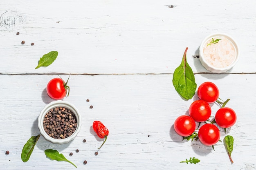
[[[228,107],[220,108],[216,112],[215,121],[222,128],[230,128],[236,123],[236,112]]]

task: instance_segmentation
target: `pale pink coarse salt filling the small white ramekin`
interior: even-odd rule
[[[236,49],[234,45],[225,37],[213,37],[213,40],[221,39],[216,44],[208,45],[212,38],[205,44],[203,55],[205,60],[212,66],[224,68],[229,66],[236,59]]]

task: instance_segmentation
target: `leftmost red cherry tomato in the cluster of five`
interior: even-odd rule
[[[175,132],[183,137],[190,136],[195,131],[195,121],[192,117],[187,115],[177,117],[173,126]]]

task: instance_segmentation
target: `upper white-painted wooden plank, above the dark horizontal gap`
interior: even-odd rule
[[[240,46],[241,58],[230,73],[255,73],[255,5],[231,0],[2,0],[0,73],[173,73],[187,46],[193,71],[207,72],[192,56],[215,32],[229,33]],[[35,70],[49,51],[59,52],[56,61]]]

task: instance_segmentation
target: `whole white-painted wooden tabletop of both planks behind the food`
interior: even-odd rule
[[[253,0],[2,0],[0,170],[256,169],[255,6]],[[215,32],[229,33],[240,46],[240,60],[225,74],[209,73],[192,57],[202,39]],[[223,143],[213,151],[200,141],[181,141],[173,130],[174,120],[198,99],[182,100],[172,85],[186,47],[197,84],[214,82],[220,97],[231,99],[227,106],[236,110],[238,120],[228,133],[235,140],[234,164]],[[59,52],[56,61],[35,70],[49,51]],[[63,100],[79,109],[83,126],[69,144],[52,144],[41,136],[23,163],[22,147],[39,134],[37,117],[53,101],[46,85],[58,75],[70,75],[70,96]],[[216,104],[212,109],[214,115]],[[94,120],[110,130],[97,156],[102,140],[92,130]],[[78,168],[49,160],[47,148],[63,153]],[[180,163],[189,157],[201,161]]]

